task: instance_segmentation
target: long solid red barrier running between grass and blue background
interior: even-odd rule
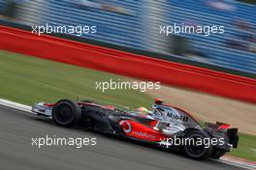
[[[0,49],[249,102],[256,79],[0,26]],[[171,97],[172,98],[172,97]]]

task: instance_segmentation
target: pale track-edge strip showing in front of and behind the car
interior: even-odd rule
[[[20,103],[10,101],[7,99],[0,99],[0,105],[15,108],[17,110],[22,110],[22,111],[29,112],[29,113],[31,113],[31,109],[32,109],[32,107],[29,105],[20,104]],[[245,168],[245,169],[250,169],[250,170],[256,169],[256,165],[254,163],[249,163],[249,162],[242,161],[239,159],[237,160],[235,158],[230,158],[228,156],[223,156],[219,160],[216,160],[216,161],[234,165],[234,166],[238,166],[238,167]]]

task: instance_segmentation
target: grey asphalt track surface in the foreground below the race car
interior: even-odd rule
[[[96,146],[32,146],[32,137],[96,137]],[[237,170],[214,160],[197,161],[82,128],[60,128],[50,120],[0,106],[0,169],[61,170]]]

